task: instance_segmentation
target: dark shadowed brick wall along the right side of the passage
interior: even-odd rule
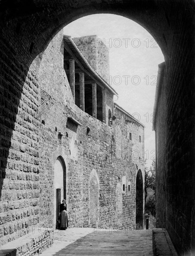
[[[157,217],[158,225],[168,230],[178,254],[193,255],[195,108],[192,96],[194,74],[190,67],[194,56],[190,51],[194,50],[189,33],[193,10],[188,9],[188,17],[184,12],[175,13],[177,18],[182,19],[174,27],[178,33],[175,34],[171,56],[175,57],[166,62],[167,81],[161,91],[157,111]],[[173,27],[173,24],[170,26]],[[179,54],[181,45],[183,50]]]

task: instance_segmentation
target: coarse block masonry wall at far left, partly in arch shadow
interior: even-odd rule
[[[39,221],[39,127],[35,113],[40,91],[27,61],[15,56],[5,40],[0,44],[0,237],[1,243],[7,243],[28,233]]]

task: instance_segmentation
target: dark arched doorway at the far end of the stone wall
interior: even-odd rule
[[[141,170],[137,172],[136,176],[136,229],[143,228],[143,178]]]

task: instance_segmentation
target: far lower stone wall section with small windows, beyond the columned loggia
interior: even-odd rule
[[[133,220],[132,221],[130,219],[131,226],[132,224],[134,226],[136,216],[136,175],[139,169],[142,173],[144,188],[144,128],[140,124],[135,123],[131,117],[121,112],[121,110],[118,108],[115,108],[114,115],[117,117],[113,122],[112,137],[114,169],[116,169],[116,172],[118,172],[116,201],[119,203],[119,205],[122,205],[121,215],[118,216],[118,221],[121,223],[128,223],[128,216],[130,216],[130,218]],[[129,139],[130,132],[132,133],[132,140]],[[141,138],[143,138],[141,142],[139,141],[140,135]],[[123,185],[125,185],[125,191],[123,190]],[[130,187],[130,191],[128,186]],[[144,196],[143,188],[141,188],[142,196]],[[122,192],[122,195],[120,195],[119,191]],[[122,200],[121,204],[120,200]]]

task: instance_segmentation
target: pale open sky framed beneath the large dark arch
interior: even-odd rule
[[[109,48],[110,85],[119,94],[115,101],[145,126],[145,158],[155,159],[152,131],[158,64],[164,61],[161,48],[148,31],[128,18],[94,14],[64,27],[72,38],[97,35]]]

